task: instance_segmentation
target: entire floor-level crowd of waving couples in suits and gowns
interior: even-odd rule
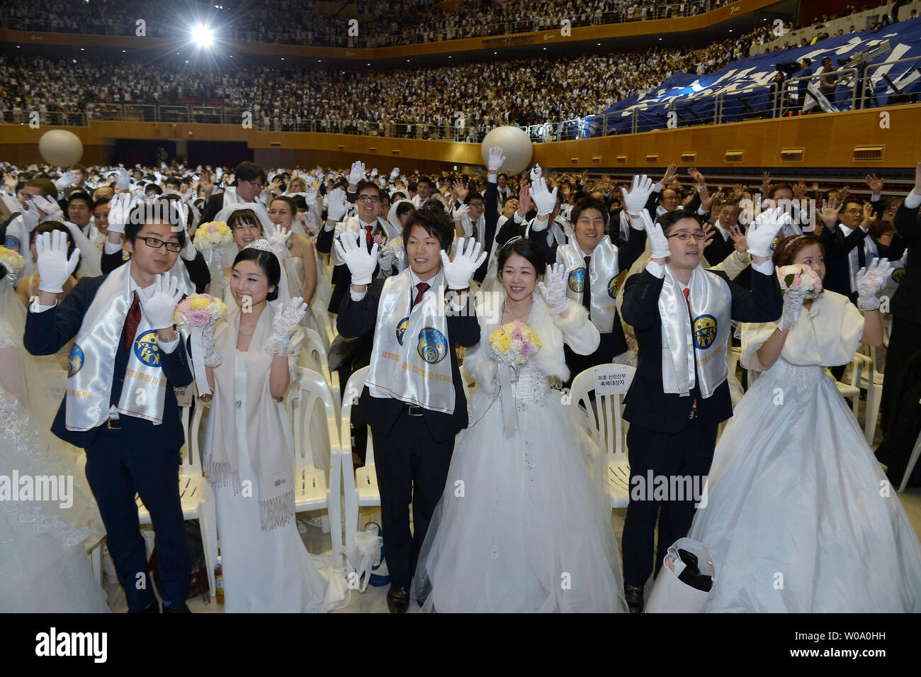
[[[188,612],[172,387],[192,384],[208,410],[227,611],[348,602],[344,571],[309,556],[293,519],[299,422],[283,402],[321,319],[338,329],[341,388],[367,367],[353,450],[364,461],[369,426],[391,613],[411,601],[435,612],[921,611],[921,543],[898,494],[880,490],[907,473],[918,428],[921,162],[909,193],[871,174],[864,198],[766,171],[760,185],[722,187],[675,165],[623,185],[539,165],[509,176],[502,148],[487,155],[484,174],[438,176],[360,161],[4,165],[0,425],[17,439],[50,426],[86,450],[129,611],[160,610],[134,585],[147,575],[137,492],[157,531],[163,611]],[[887,337],[874,452],[834,379],[861,344]],[[559,391],[612,364],[629,384],[620,539],[592,433],[602,401],[567,405]],[[479,385],[469,403],[464,379]],[[8,438],[0,463],[37,455]],[[659,477],[671,488],[643,488]],[[68,538],[84,526],[58,517]],[[0,608],[105,610],[82,552],[64,556],[63,541],[40,543],[2,511],[0,534],[18,544],[16,562],[53,558],[67,581],[49,590],[40,569],[17,566],[0,577]],[[712,556],[715,589],[706,560],[678,550],[696,547],[685,534]],[[861,556],[842,559],[853,543]],[[650,597],[674,557],[704,593],[696,601]]]

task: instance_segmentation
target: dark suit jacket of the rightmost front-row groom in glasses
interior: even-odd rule
[[[784,301],[775,274],[752,271],[752,291],[749,291],[729,280],[725,274],[712,272],[729,284],[733,320],[769,322],[780,317]],[[659,293],[663,284],[663,279],[644,270],[632,275],[624,285],[624,321],[633,326],[639,344],[636,374],[625,400],[624,420],[664,433],[677,433],[687,423],[696,399],[697,413],[702,422],[718,424],[732,415],[727,382],[724,381],[705,399],[700,397],[696,381],[689,397],[662,390]]]

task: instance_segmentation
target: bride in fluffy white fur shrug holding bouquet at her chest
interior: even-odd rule
[[[624,611],[611,511],[589,477],[591,442],[548,380],[568,376],[564,342],[589,354],[598,330],[565,297],[562,266],[535,293],[546,263],[529,239],[509,240],[498,270],[505,293],[491,297],[464,360],[482,389],[419,555],[414,599],[431,612]],[[513,321],[537,338],[519,365],[500,356],[519,334],[494,336]]]

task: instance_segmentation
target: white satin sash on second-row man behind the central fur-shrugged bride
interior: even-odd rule
[[[566,296],[582,303],[586,283],[585,252],[576,239],[556,248],[556,263],[563,263],[569,272],[566,278]],[[611,332],[617,312],[617,248],[605,235],[591,252],[589,261],[589,290],[591,291],[589,317],[600,333]]]

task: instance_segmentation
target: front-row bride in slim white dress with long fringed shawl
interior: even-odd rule
[[[216,487],[227,612],[324,612],[347,594],[344,580],[314,566],[294,519],[294,448],[280,400],[296,373],[307,306],[274,304],[273,320],[281,275],[267,242],[240,251],[229,285],[235,308],[204,345],[206,364],[217,365],[207,368],[214,401],[204,465]]]

